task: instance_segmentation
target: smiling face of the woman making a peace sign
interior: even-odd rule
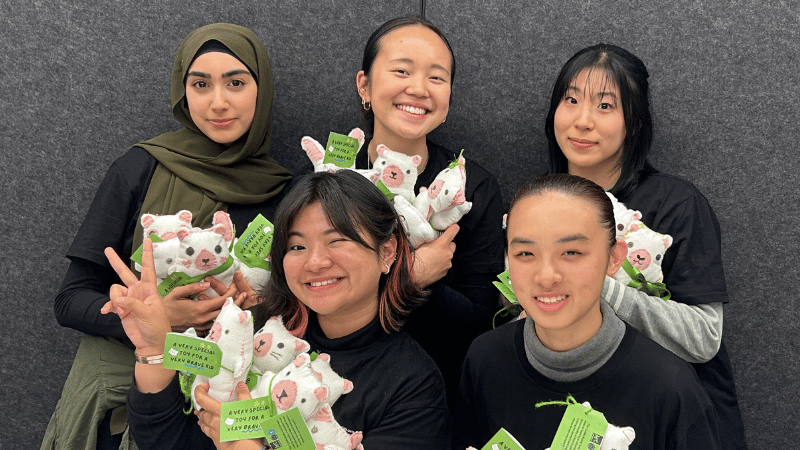
[[[384,265],[394,260],[394,238],[378,255],[333,229],[319,202],[300,211],[288,236],[286,282],[298,300],[317,313],[328,337],[356,331],[377,315],[378,284]]]

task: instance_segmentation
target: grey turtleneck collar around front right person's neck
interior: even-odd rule
[[[554,352],[536,336],[533,320],[525,319],[525,354],[539,373],[554,381],[577,381],[595,373],[617,350],[625,336],[625,323],[600,301],[603,324],[587,343],[566,352]]]

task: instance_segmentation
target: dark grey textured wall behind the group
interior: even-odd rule
[[[275,74],[272,154],[305,163],[303,134],[358,124],[355,74],[371,31],[420,2],[4,0],[0,5],[0,448],[38,448],[78,344],[55,322],[63,257],[107,167],[176,127],[174,52],[210,22],[247,26]],[[800,441],[800,5],[797,1],[426,1],[458,69],[435,139],[466,148],[506,202],[541,173],[560,66],[621,45],[650,70],[654,164],[705,193],[722,226],[733,302],[725,334],[752,449]]]

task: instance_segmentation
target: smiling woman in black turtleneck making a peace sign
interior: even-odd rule
[[[163,353],[170,327],[151,267],[139,281],[108,254],[128,287],[112,290],[104,312],[122,318],[139,357]],[[365,448],[447,448],[450,419],[441,375],[399,331],[423,297],[411,279],[405,232],[384,195],[355,172],[308,175],[278,209],[270,260],[275,264],[254,309],[254,326],[280,314],[312,351],[331,355],[333,369],[354,386],[333,405],[337,422],[363,431]],[[196,392],[203,406],[198,423],[183,413],[175,371],[137,363],[128,408],[139,446],[261,449],[260,439],[219,443],[220,406],[204,389]],[[248,398],[246,387],[239,398]]]

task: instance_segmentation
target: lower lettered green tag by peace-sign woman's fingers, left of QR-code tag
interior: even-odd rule
[[[225,402],[220,408],[221,442],[264,437],[262,422],[277,414],[275,403],[268,396]]]

